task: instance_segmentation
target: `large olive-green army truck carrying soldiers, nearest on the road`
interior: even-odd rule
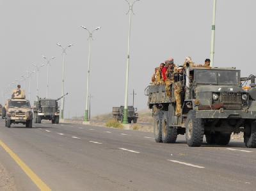
[[[164,86],[148,86],[155,141],[174,143],[177,135],[186,134],[188,146],[201,146],[205,135],[208,144],[227,145],[232,133],[244,132],[246,147],[256,148],[255,77],[250,77],[251,89],[246,91],[240,73],[236,68],[187,66],[180,116],[175,115],[174,85],[170,97]]]

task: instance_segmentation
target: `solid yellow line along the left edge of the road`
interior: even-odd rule
[[[0,140],[0,145],[3,147],[3,149],[13,158],[13,160],[20,166],[20,168],[28,175],[28,177],[35,183],[36,187],[38,187],[40,190],[49,191],[51,188],[49,188],[44,181],[42,181],[36,174],[33,172],[28,165],[26,165],[13,151],[8,148],[6,144],[4,144],[3,141]]]

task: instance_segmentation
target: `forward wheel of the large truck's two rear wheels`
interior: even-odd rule
[[[162,122],[162,140],[164,143],[175,143],[177,139],[177,128],[168,125],[168,112],[164,112]]]

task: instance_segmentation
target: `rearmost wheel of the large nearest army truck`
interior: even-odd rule
[[[156,142],[163,142],[162,122],[163,122],[163,111],[159,111],[157,112],[156,115],[154,115],[154,137]]]

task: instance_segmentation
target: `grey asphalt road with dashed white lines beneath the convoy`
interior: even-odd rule
[[[6,128],[0,141],[51,190],[256,190],[256,149],[243,142],[189,148],[153,134],[100,126],[36,124]],[[0,146],[17,190],[39,190]]]

